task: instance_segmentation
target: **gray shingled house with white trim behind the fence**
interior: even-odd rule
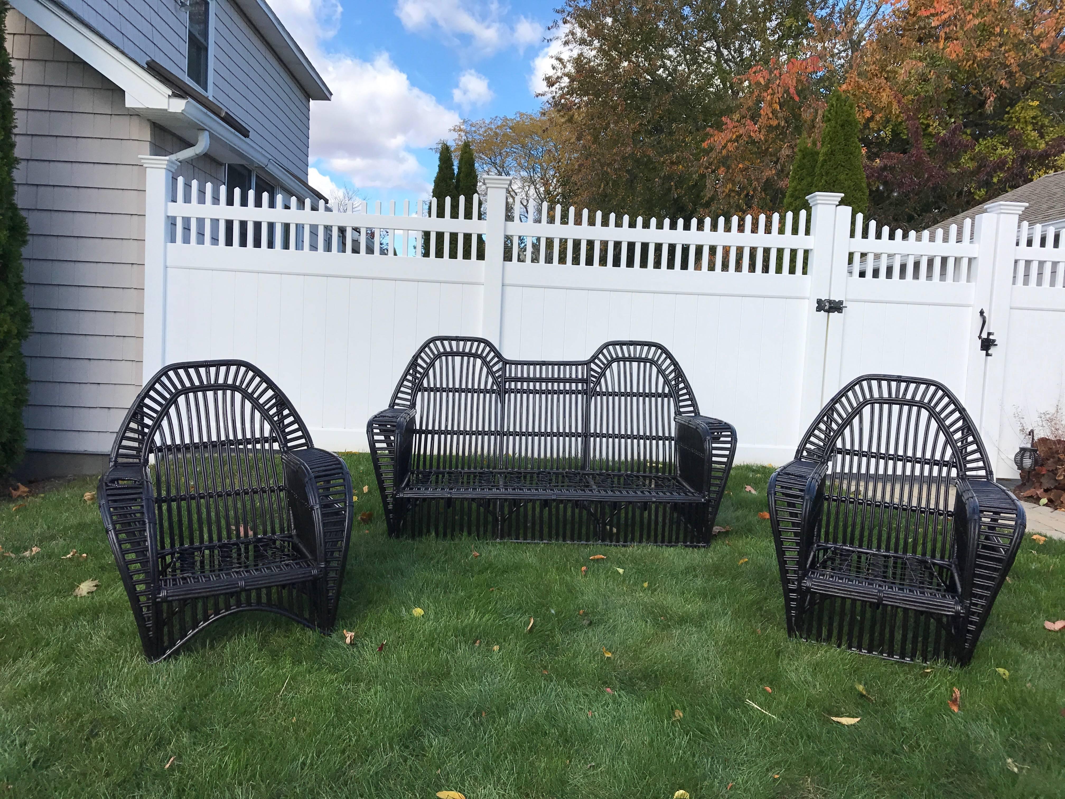
[[[142,384],[145,167],[271,197],[307,183],[329,88],[265,0],[12,0],[33,333],[20,474],[93,473]],[[190,153],[185,153],[189,158]],[[273,201],[273,200],[268,200]]]

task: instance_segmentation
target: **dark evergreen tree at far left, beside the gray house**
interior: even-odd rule
[[[6,38],[10,4],[0,0],[0,40]],[[11,55],[0,47],[0,475],[21,460],[26,447],[22,407],[29,378],[22,342],[30,335],[30,306],[22,295],[22,247],[28,228],[15,203],[15,111]]]

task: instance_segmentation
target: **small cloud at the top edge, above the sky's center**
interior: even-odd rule
[[[539,42],[543,27],[525,16],[514,23],[507,7],[496,0],[398,0],[396,16],[414,33],[438,33],[453,47],[466,47],[475,55],[491,55],[504,47],[526,47]]]

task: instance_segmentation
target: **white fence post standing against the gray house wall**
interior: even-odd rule
[[[144,355],[142,385],[166,363],[166,243],[170,238],[166,203],[177,163],[169,156],[142,156],[144,203]]]

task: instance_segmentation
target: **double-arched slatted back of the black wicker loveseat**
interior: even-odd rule
[[[674,415],[699,413],[676,359],[609,342],[587,361],[505,359],[477,338],[429,339],[391,407],[414,408],[412,469],[672,472]]]

